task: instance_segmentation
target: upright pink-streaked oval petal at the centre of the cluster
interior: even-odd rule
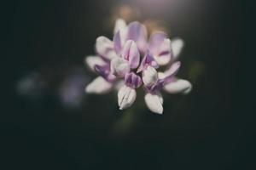
[[[140,54],[137,45],[132,40],[125,42],[125,48],[122,54],[123,59],[129,62],[131,69],[136,69],[140,62]]]

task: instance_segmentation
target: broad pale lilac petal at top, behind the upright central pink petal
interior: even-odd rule
[[[147,49],[147,29],[139,22],[131,22],[128,25],[126,40],[133,40],[137,43],[140,51],[145,52]]]

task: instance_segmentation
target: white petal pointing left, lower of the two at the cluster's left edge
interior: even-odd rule
[[[86,86],[85,92],[88,94],[106,94],[112,86],[112,83],[107,82],[104,78],[96,77]]]

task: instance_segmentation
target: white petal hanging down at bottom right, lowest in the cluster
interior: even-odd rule
[[[157,94],[146,94],[145,95],[145,102],[148,106],[148,109],[150,111],[153,111],[154,113],[162,114],[163,109],[163,98],[160,93]]]

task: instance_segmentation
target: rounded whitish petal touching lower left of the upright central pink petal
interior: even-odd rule
[[[116,57],[111,59],[110,71],[116,77],[125,77],[125,74],[130,71],[130,66],[127,60]]]

